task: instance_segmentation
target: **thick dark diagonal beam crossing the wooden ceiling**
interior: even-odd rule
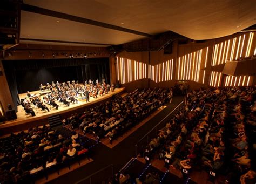
[[[29,4],[22,4],[21,7],[22,7],[23,11],[28,11],[28,12],[32,12],[32,13],[38,13],[38,14],[42,14],[42,15],[46,15],[46,16],[66,19],[66,20],[69,20],[69,21],[75,21],[75,22],[80,22],[80,23],[84,23],[84,24],[95,25],[95,26],[99,26],[99,27],[102,27],[102,28],[128,32],[128,33],[132,33],[134,35],[140,35],[140,36],[145,36],[145,37],[151,37],[152,36],[152,35],[144,33],[144,32],[127,29],[127,28],[123,28],[123,27],[120,27],[120,26],[107,24],[107,23],[104,23],[104,22],[93,21],[91,19],[87,19],[87,18],[83,18],[83,17],[77,17],[77,16],[69,15],[69,14],[66,14],[66,13],[58,12],[58,11],[48,10],[48,9],[40,8],[38,6],[32,6],[32,5],[29,5]]]

